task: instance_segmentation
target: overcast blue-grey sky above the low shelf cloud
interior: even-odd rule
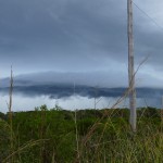
[[[138,85],[163,86],[163,1],[135,0]],[[109,75],[127,84],[127,0],[0,0],[0,77],[40,72]],[[118,76],[120,75],[120,76]],[[104,75],[103,75],[104,76]]]

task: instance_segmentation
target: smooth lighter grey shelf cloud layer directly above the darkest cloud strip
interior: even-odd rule
[[[76,72],[60,73],[45,72],[30,73],[14,76],[14,87],[16,86],[41,86],[41,85],[80,85],[86,87],[98,88],[118,88],[127,87],[127,73],[123,71],[112,70],[112,72]],[[0,88],[10,86],[10,78],[1,79]],[[138,73],[136,76],[137,88],[162,88],[162,78],[156,78],[150,73]]]

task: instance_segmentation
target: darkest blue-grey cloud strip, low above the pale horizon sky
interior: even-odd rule
[[[0,88],[1,92],[9,92],[9,87]],[[126,88],[99,88],[77,85],[33,85],[33,86],[15,86],[14,93],[21,93],[27,97],[48,96],[50,99],[68,98],[71,96],[80,96],[88,98],[117,98],[124,96]],[[138,99],[161,99],[163,89],[137,88]]]

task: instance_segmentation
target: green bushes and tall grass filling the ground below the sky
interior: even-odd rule
[[[161,111],[138,110],[137,133],[128,125],[127,109],[78,110],[46,105],[0,114],[2,163],[162,163]]]

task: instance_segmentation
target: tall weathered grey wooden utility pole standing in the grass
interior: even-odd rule
[[[129,123],[131,129],[136,130],[136,91],[135,91],[135,71],[134,71],[134,36],[133,36],[133,1],[127,0],[128,16],[128,83],[129,83]]]

